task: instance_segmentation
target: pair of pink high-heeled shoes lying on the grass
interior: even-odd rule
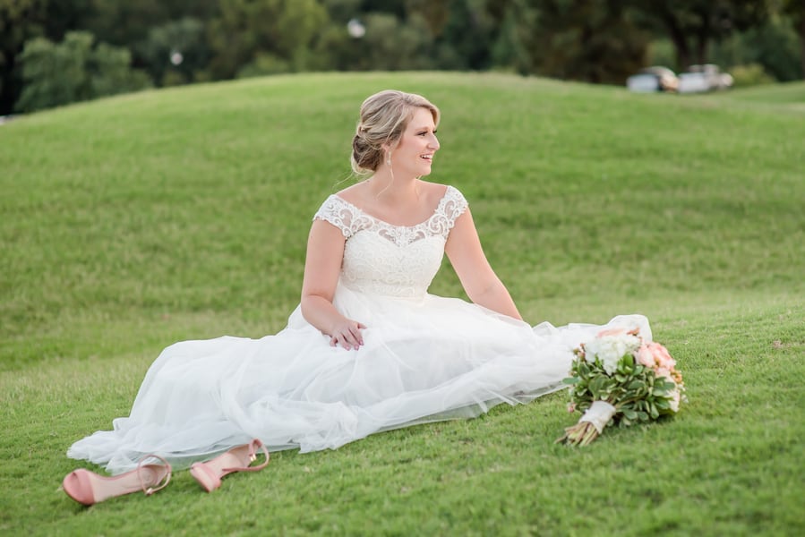
[[[265,454],[265,461],[260,465],[250,466],[257,460],[257,449]],[[161,465],[145,465],[150,459],[162,461]],[[257,472],[269,464],[269,451],[258,439],[253,439],[244,446],[233,447],[206,463],[193,463],[190,474],[199,482],[201,488],[212,492],[221,486],[221,479],[235,472]],[[131,472],[121,473],[114,477],[105,477],[83,468],[68,473],[62,482],[62,488],[75,501],[91,506],[105,499],[115,498],[142,490],[150,496],[167,487],[170,482],[171,467],[167,460],[157,455],[146,455],[140,464]]]

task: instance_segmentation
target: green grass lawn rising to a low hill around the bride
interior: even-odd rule
[[[638,311],[680,363],[668,422],[554,446],[564,396],[283,452],[207,496],[186,473],[86,509],[64,451],[125,415],[162,347],[260,337],[298,300],[310,217],[373,91],[442,109],[532,323]],[[805,85],[708,96],[445,73],[144,92],[0,127],[0,533],[799,534]],[[342,184],[343,185],[343,184]],[[450,270],[432,286],[460,294]]]

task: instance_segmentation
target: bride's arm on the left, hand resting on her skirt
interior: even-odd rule
[[[302,282],[302,315],[330,336],[330,345],[357,349],[364,345],[362,323],[347,319],[332,304],[344,258],[344,234],[323,220],[313,220],[307,239]]]

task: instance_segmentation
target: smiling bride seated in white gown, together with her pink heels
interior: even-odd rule
[[[484,256],[467,200],[422,180],[440,147],[439,119],[415,94],[364,101],[352,166],[368,178],[315,213],[287,328],[167,347],[131,414],[68,450],[118,474],[68,474],[73,499],[150,494],[167,485],[171,464],[190,465],[210,491],[227,473],[265,466],[271,450],[336,448],[561,388],[572,349],[601,327],[522,320]],[[472,303],[428,294],[445,253]],[[641,316],[612,325],[637,325],[650,339]],[[258,451],[261,464],[250,466]]]

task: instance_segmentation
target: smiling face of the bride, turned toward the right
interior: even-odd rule
[[[394,175],[421,177],[431,173],[433,154],[439,149],[436,125],[427,108],[416,108],[405,132],[391,151]]]

